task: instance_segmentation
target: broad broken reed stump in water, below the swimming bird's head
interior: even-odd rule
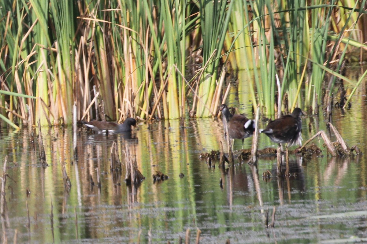
[[[125,145],[125,167],[126,167],[126,175],[125,181],[126,185],[138,185],[141,181],[145,179],[143,174],[138,170],[138,164],[136,156],[130,155],[130,150],[128,145]]]

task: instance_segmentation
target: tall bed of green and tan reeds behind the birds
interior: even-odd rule
[[[1,125],[71,124],[74,102],[79,120],[217,116],[241,69],[254,109],[316,112],[339,80],[361,83],[343,68],[364,58],[363,14],[366,0],[4,0]]]

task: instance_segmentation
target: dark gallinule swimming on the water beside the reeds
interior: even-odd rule
[[[124,123],[117,124],[113,122],[103,122],[103,121],[82,121],[87,127],[91,128],[92,130],[98,133],[122,133],[122,132],[130,132],[131,126],[136,125],[136,120],[133,118],[127,118]]]

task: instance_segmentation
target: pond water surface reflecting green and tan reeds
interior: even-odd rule
[[[316,123],[317,117],[312,118],[311,126],[310,118],[304,120],[305,138],[315,134],[318,127],[326,128],[323,121]],[[335,124],[347,141],[355,140],[350,131],[343,133],[338,121]],[[328,238],[324,232],[330,238],[339,238],[340,231],[346,236],[355,233],[353,223],[367,226],[361,218],[348,218],[350,224],[346,226],[321,225],[306,218],[363,208],[361,203],[367,201],[367,164],[363,157],[304,159],[290,155],[290,176],[281,179],[276,177],[274,157],[260,157],[257,167],[235,160],[235,166],[226,165],[225,170],[208,168],[199,154],[219,150],[219,142],[225,141],[218,120],[187,120],[184,126],[179,120],[158,121],[149,128],[146,124],[138,127],[131,134],[110,135],[87,134],[85,129],[79,129],[76,158],[71,128],[42,128],[46,161],[50,165],[46,168],[40,165],[38,149],[28,131],[3,132],[1,163],[6,155],[9,157],[7,209],[1,219],[3,242],[12,242],[17,233],[17,243],[50,243],[53,239],[57,243],[173,243],[179,236],[184,237],[188,228],[191,240],[195,240],[199,228],[203,243],[225,243],[227,238],[231,243],[319,242]],[[259,140],[260,149],[275,146],[265,136]],[[121,179],[113,179],[113,142],[121,163],[126,161],[126,147],[136,156],[137,167],[146,177],[140,185],[126,186],[124,166]],[[245,140],[244,147],[250,145],[251,140]],[[320,143],[319,146],[323,149]],[[235,150],[241,147],[241,142],[235,142]],[[363,144],[359,147],[364,149]],[[65,163],[72,184],[70,193],[64,191],[59,158]],[[168,179],[154,184],[152,175],[156,171],[168,175]],[[262,179],[262,172],[267,171],[272,178]],[[184,176],[180,177],[181,174]],[[219,186],[220,178],[223,189]],[[27,188],[31,192],[28,198]],[[54,236],[50,231],[51,202]],[[29,229],[24,224],[28,222],[26,203]],[[264,231],[264,221],[266,211],[273,206],[276,225],[270,234]],[[363,237],[366,232],[359,233]]]

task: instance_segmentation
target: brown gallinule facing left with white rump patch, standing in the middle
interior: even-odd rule
[[[222,111],[222,121],[224,130],[228,127],[228,134],[230,139],[242,139],[252,136],[255,131],[255,121],[247,119],[241,114],[232,114],[228,106],[222,104],[219,107],[219,111]]]

